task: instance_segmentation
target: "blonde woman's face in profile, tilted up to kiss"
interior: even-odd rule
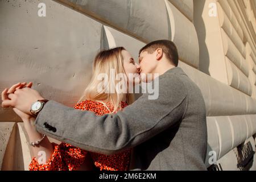
[[[139,84],[141,82],[141,76],[139,75],[141,66],[135,63],[133,57],[126,50],[122,50],[123,56],[123,68],[127,76],[127,82],[133,82],[133,84]]]

